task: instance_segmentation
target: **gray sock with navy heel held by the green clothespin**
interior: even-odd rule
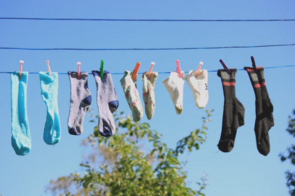
[[[104,137],[110,137],[116,132],[113,113],[119,105],[112,75],[108,71],[104,71],[103,77],[100,77],[99,71],[92,71],[92,74],[97,87],[98,132]]]

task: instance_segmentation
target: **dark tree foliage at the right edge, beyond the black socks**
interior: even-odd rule
[[[293,110],[292,116],[289,116],[289,125],[287,128],[288,133],[290,133],[293,137],[295,137],[295,109]],[[288,147],[284,153],[279,155],[281,157],[281,161],[290,160],[293,165],[295,165],[295,145]],[[295,172],[287,171],[286,179],[287,179],[287,187],[289,188],[289,193],[291,196],[295,196]]]

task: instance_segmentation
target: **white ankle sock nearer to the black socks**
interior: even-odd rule
[[[196,105],[201,109],[206,107],[208,103],[208,71],[200,70],[197,75],[197,71],[189,71],[185,76],[185,79],[191,89]]]

